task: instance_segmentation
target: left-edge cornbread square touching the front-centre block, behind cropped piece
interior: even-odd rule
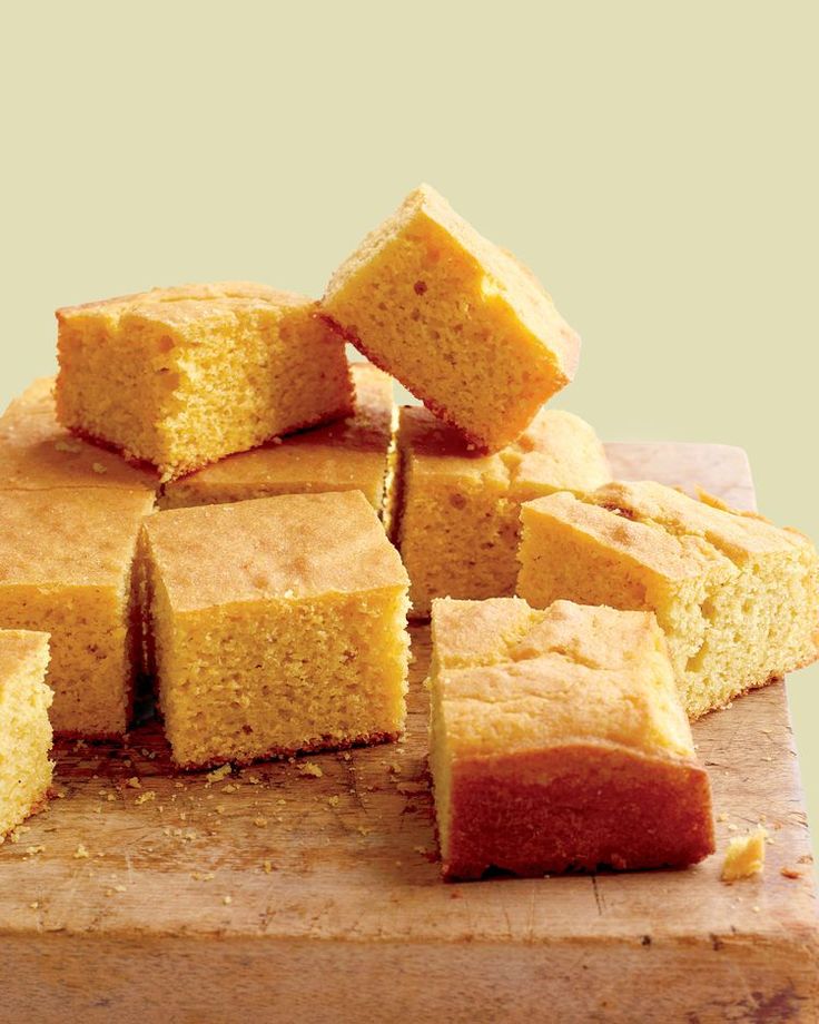
[[[148,492],[0,491],[0,627],[51,634],[57,732],[121,736],[140,642],[132,561]]]

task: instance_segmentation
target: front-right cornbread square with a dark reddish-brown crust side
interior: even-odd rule
[[[447,878],[694,864],[713,850],[654,616],[438,599],[430,766]]]

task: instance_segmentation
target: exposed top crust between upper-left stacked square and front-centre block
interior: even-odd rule
[[[250,452],[228,455],[171,481],[162,503],[174,508],[184,503],[186,492],[196,496],[211,489],[292,484],[320,491],[325,485],[338,488],[347,480],[357,481],[374,456],[376,461],[386,457],[392,434],[393,381],[369,363],[353,363],[349,370],[355,388],[355,411],[351,416]],[[381,473],[383,467],[378,465],[376,471]],[[383,486],[383,481],[378,483]]]

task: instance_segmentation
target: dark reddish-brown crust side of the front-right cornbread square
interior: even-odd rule
[[[682,867],[714,849],[705,770],[610,745],[457,762],[451,807],[447,879]]]

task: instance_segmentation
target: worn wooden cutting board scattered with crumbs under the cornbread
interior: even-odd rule
[[[753,505],[738,449],[610,454],[616,475]],[[155,725],[126,748],[60,746],[62,797],[0,847],[0,1020],[817,1020],[816,894],[781,683],[694,727],[719,816],[719,853],[700,866],[445,885],[426,629],[413,651],[402,744],[217,781],[174,774]],[[723,885],[729,838],[760,820],[763,876]]]

